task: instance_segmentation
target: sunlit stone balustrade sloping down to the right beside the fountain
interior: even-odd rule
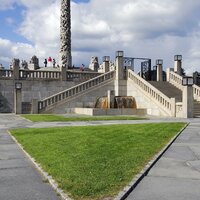
[[[136,87],[139,88],[144,95],[154,101],[169,116],[175,116],[175,98],[167,97],[132,70],[128,70],[128,78],[135,83]]]

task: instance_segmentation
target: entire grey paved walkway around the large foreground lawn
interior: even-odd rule
[[[13,114],[0,115],[0,200],[58,200],[53,189],[7,134],[23,127],[86,126],[149,122],[191,122],[128,200],[200,199],[200,119],[157,119],[145,121],[40,122]]]

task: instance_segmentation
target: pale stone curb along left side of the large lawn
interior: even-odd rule
[[[11,138],[15,141],[15,143],[19,146],[19,148],[23,151],[23,153],[26,155],[26,157],[32,162],[33,166],[40,172],[40,174],[44,177],[44,179],[47,180],[47,182],[49,182],[49,184],[51,185],[51,187],[56,191],[57,195],[61,197],[62,200],[72,200],[71,198],[69,198],[69,196],[63,192],[63,190],[61,190],[58,187],[58,184],[55,182],[55,180],[48,175],[47,172],[45,172],[42,167],[35,161],[34,158],[32,158],[24,149],[23,146],[16,140],[16,138],[14,136],[12,136],[12,134],[10,133],[10,131],[8,131],[8,134],[11,136]],[[44,182],[46,182],[44,180]]]

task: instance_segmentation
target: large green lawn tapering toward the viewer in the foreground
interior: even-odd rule
[[[16,129],[11,133],[71,198],[113,197],[184,123]]]

